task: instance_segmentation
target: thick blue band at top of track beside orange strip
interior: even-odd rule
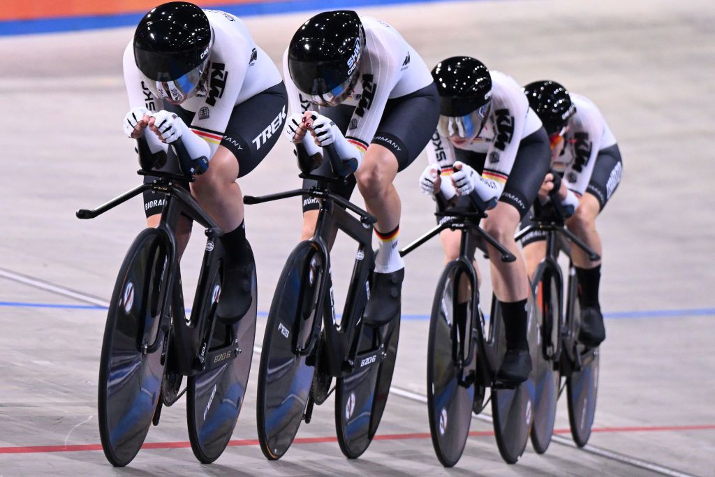
[[[361,6],[385,6],[395,4],[438,3],[450,0],[332,0],[330,9],[355,9]],[[473,0],[484,1],[484,0]],[[159,2],[157,1],[157,4]],[[209,8],[209,7],[206,7]],[[267,1],[265,3],[242,5],[217,5],[211,9],[226,11],[235,16],[256,16],[270,14],[284,14],[295,11],[322,10],[320,5],[310,1]],[[59,31],[78,31],[118,28],[120,26],[134,26],[139,23],[143,13],[94,15],[94,16],[66,16],[61,18],[31,19],[31,20],[6,20],[0,21],[0,36],[56,33]]]

